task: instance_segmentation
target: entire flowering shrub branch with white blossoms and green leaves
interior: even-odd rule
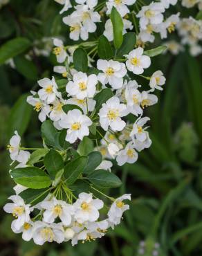
[[[68,12],[69,38],[82,42],[53,39],[54,72],[61,77],[38,80],[39,90],[27,98],[39,113],[44,147],[22,147],[15,131],[8,149],[16,195],[4,210],[16,218],[12,230],[24,240],[71,240],[74,246],[104,236],[129,209],[131,194],[113,198],[107,189],[121,185],[113,164],[135,163],[152,144],[144,111],[158,102],[165,77],[160,70],[144,73],[166,46],[147,49],[147,43],[176,27],[196,55],[202,34],[201,21],[167,17],[176,1],[57,2],[60,14]]]

